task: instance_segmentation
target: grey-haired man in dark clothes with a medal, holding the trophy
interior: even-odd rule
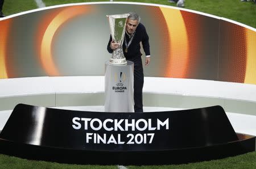
[[[141,18],[138,14],[130,13],[127,18],[125,39],[123,42],[123,53],[128,61],[134,62],[134,111],[143,112],[142,88],[144,83],[144,74],[141,59],[141,45],[146,54],[145,65],[150,64],[150,45],[148,43],[148,35],[146,28],[142,23],[139,23]],[[108,43],[108,51],[112,53],[113,50],[119,47],[118,43],[112,41],[110,36]]]

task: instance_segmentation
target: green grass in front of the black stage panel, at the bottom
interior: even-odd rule
[[[256,152],[219,160],[200,163],[163,166],[126,166],[127,168],[255,168]],[[117,166],[59,164],[36,160],[9,157],[0,154],[0,168],[118,168]]]

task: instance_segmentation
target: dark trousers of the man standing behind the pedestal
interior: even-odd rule
[[[134,112],[143,112],[142,88],[144,74],[141,57],[127,59],[134,62]]]

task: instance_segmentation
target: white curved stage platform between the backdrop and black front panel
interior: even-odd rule
[[[18,103],[104,111],[104,77],[0,79],[0,130]],[[221,105],[238,133],[256,136],[256,85],[145,77],[144,111]]]

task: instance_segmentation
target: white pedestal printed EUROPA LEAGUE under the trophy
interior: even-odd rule
[[[105,62],[105,112],[134,112],[134,64],[111,65]]]

